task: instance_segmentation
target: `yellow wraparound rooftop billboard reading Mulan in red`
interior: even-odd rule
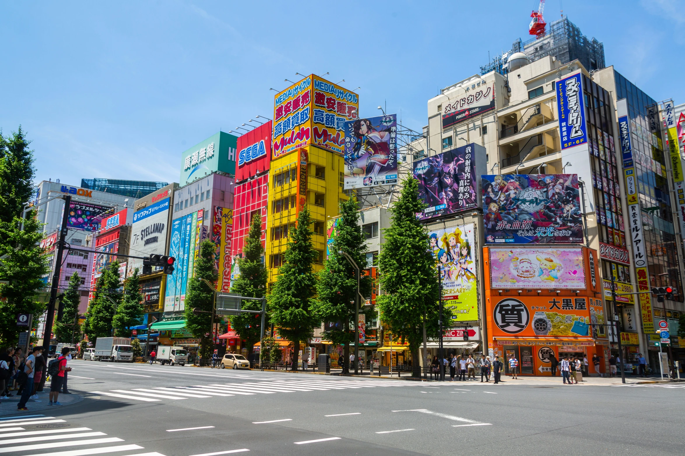
[[[309,144],[345,153],[345,122],[356,120],[357,94],[310,75],[276,94],[273,103],[272,158]]]

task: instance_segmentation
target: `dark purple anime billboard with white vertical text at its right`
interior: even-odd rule
[[[486,150],[477,144],[448,150],[414,162],[419,199],[427,205],[419,219],[449,215],[479,206],[477,169],[484,170]]]

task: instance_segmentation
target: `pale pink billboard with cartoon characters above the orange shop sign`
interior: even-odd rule
[[[493,289],[586,289],[582,248],[490,249]]]

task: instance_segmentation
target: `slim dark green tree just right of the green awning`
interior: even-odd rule
[[[211,336],[214,286],[210,287],[204,282],[207,280],[215,284],[219,278],[214,266],[214,250],[216,245],[210,240],[200,244],[200,254],[195,261],[195,277],[188,280],[186,291],[186,327],[194,337],[201,340],[200,357],[203,359],[211,358],[214,352]],[[196,308],[203,312],[194,314],[192,310]]]

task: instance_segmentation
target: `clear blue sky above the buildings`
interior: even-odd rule
[[[685,102],[685,2],[571,1],[564,14],[604,43],[656,100]],[[545,18],[560,17],[559,0]],[[426,102],[529,38],[534,1],[127,1],[0,3],[0,128],[21,124],[37,180],[179,179],[180,155],[220,129],[271,117],[295,72],[360,87],[421,129]]]

